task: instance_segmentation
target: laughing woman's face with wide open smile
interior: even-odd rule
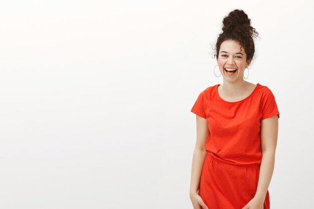
[[[224,82],[233,83],[239,80],[243,81],[244,70],[247,66],[249,66],[250,62],[246,62],[245,50],[242,47],[242,51],[240,52],[240,48],[240,44],[233,40],[224,41],[220,46],[217,64],[221,74],[223,75]],[[225,68],[237,70],[234,73],[231,71],[231,73],[228,74]]]

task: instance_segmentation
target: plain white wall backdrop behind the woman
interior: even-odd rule
[[[173,0],[0,3],[0,208],[193,208],[190,110],[234,9],[280,113],[271,208],[313,208],[313,3]]]

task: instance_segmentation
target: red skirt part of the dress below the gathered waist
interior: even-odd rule
[[[208,152],[202,168],[199,195],[209,209],[241,209],[254,196],[260,165],[235,165]],[[264,209],[270,208],[267,190]],[[202,207],[203,209],[203,207]]]

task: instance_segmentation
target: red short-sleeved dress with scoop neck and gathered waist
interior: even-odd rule
[[[209,136],[199,195],[210,209],[241,209],[255,195],[262,160],[261,120],[278,115],[275,97],[257,83],[240,101],[228,102],[218,86],[202,91],[191,112],[207,119]],[[267,190],[264,209],[270,208]],[[203,209],[203,208],[202,208]]]

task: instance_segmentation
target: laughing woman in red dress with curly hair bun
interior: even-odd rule
[[[270,208],[279,112],[267,86],[243,79],[258,36],[250,23],[242,10],[224,18],[215,54],[223,84],[202,91],[191,110],[197,122],[194,209]]]

